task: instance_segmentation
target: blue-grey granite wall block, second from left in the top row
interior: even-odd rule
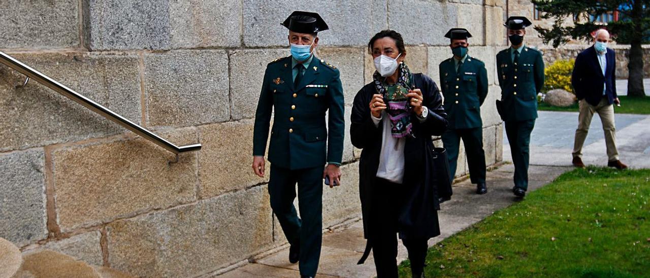
[[[170,1],[88,1],[90,47],[170,49]]]

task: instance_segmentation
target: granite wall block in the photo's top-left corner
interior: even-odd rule
[[[5,0],[0,49],[57,49],[79,45],[79,1]]]

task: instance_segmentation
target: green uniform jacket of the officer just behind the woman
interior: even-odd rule
[[[456,74],[454,58],[440,63],[440,88],[445,96],[449,129],[482,127],[480,107],[487,96],[486,64],[476,58],[465,58]]]

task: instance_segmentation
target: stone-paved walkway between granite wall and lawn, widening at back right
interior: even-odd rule
[[[650,88],[650,86],[649,86]],[[532,134],[529,170],[529,192],[550,183],[571,167],[573,134],[577,126],[576,112],[540,112]],[[650,116],[616,114],[617,144],[621,160],[633,168],[650,168]],[[592,132],[584,147],[587,164],[605,165],[603,132],[598,117],[591,123]],[[504,160],[511,161],[510,146],[504,135]],[[469,180],[454,184],[454,196],[443,203],[439,211],[442,234],[429,245],[458,233],[486,218],[496,210],[519,201],[512,194],[512,164],[487,173],[488,192],[474,194]],[[298,264],[289,263],[289,249],[284,247],[270,255],[260,256],[251,263],[224,273],[220,277],[300,277]],[[318,277],[374,277],[372,255],[359,266],[363,253],[363,227],[360,221],[335,229],[323,236]],[[406,249],[399,245],[398,261],[406,259]]]

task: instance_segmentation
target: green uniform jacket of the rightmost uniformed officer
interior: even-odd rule
[[[524,46],[519,64],[512,62],[510,48],[497,53],[504,121],[536,119],[537,93],[544,85],[544,61],[536,49]]]

